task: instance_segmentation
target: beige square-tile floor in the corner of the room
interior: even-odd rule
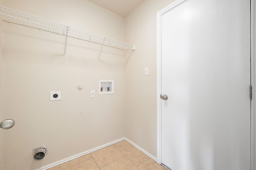
[[[127,141],[120,141],[48,170],[167,170]]]

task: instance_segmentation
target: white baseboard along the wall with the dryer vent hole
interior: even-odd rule
[[[54,163],[52,163],[52,164],[49,164],[49,165],[46,165],[46,166],[44,166],[44,167],[38,168],[37,170],[47,170],[47,169],[49,169],[49,168],[52,168],[52,167],[54,167],[54,166],[63,164],[63,163],[65,163],[65,162],[68,162],[68,161],[73,160],[73,159],[75,159],[75,158],[78,158],[78,157],[80,157],[80,156],[84,156],[84,155],[89,154],[89,153],[91,153],[91,152],[94,152],[94,151],[96,151],[96,150],[99,150],[99,149],[102,149],[102,148],[104,148],[104,147],[108,147],[108,146],[110,146],[110,145],[113,145],[113,144],[115,144],[115,143],[118,143],[118,142],[120,142],[120,141],[123,141],[124,139],[125,139],[125,138],[121,138],[121,139],[118,139],[118,140],[116,140],[116,141],[107,143],[107,144],[105,144],[105,145],[101,145],[100,147],[96,147],[96,148],[94,148],[94,149],[87,150],[87,151],[82,152],[82,153],[80,153],[80,154],[76,154],[76,155],[74,155],[74,156],[70,156],[69,158],[60,160],[60,161],[58,161],[58,162],[54,162]]]

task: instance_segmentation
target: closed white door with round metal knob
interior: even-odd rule
[[[250,170],[250,0],[188,0],[161,20],[162,164]]]

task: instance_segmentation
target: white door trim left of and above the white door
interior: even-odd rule
[[[162,57],[162,53],[161,53],[161,25],[162,25],[162,16],[164,14],[166,14],[167,12],[169,12],[170,10],[176,8],[177,6],[179,6],[180,4],[183,4],[184,2],[186,2],[187,0],[176,0],[175,2],[173,2],[172,4],[166,6],[164,9],[160,10],[159,12],[157,12],[157,16],[156,16],[156,20],[157,20],[157,28],[156,28],[156,32],[157,32],[157,38],[156,38],[156,71],[157,71],[157,84],[156,84],[156,162],[158,164],[162,163],[162,153],[161,153],[161,139],[162,139],[162,131],[161,131],[161,98],[160,95],[162,93],[162,89],[161,89],[161,57]]]

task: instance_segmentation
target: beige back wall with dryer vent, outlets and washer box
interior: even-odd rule
[[[124,18],[86,0],[4,0],[3,5],[125,40]],[[2,169],[34,170],[124,137],[123,51],[104,47],[97,63],[100,45],[70,38],[64,58],[64,36],[3,25],[4,117],[16,124],[4,133]],[[98,95],[99,79],[114,80],[115,93]],[[49,92],[59,90],[62,100],[50,102]],[[35,161],[32,149],[42,145],[48,154]]]

